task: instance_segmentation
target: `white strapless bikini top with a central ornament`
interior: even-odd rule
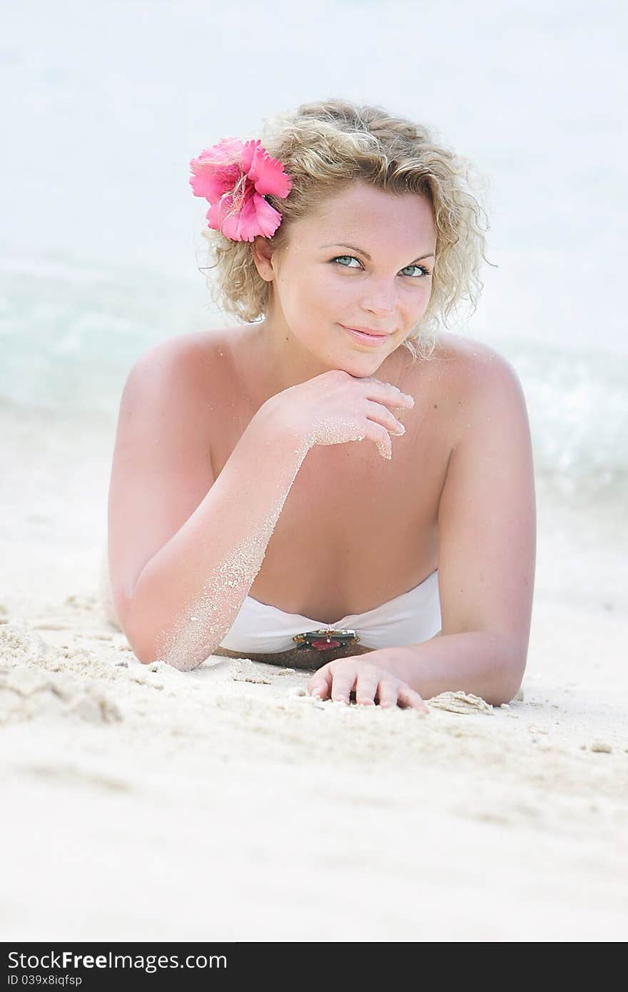
[[[277,606],[246,596],[220,647],[243,655],[247,651],[255,654],[290,651],[297,647],[293,641],[296,634],[327,626],[324,620],[286,613]],[[365,648],[401,648],[428,641],[441,627],[439,569],[409,592],[402,592],[401,596],[366,613],[342,617],[333,627],[354,630],[358,643]]]

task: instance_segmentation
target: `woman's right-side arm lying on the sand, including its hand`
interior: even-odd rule
[[[521,685],[530,639],[536,563],[533,450],[517,373],[477,346],[460,399],[459,431],[439,506],[440,634],[323,666],[308,684],[360,699],[390,673],[424,699],[444,691],[509,702]],[[358,701],[360,701],[358,699]]]

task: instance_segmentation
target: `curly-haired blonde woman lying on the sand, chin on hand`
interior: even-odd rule
[[[302,667],[310,692],[365,705],[508,701],[534,469],[511,365],[438,332],[481,286],[468,163],[331,99],[190,166],[218,299],[245,323],[168,339],[127,379],[108,554],[134,652]]]

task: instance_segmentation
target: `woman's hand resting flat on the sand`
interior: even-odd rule
[[[307,688],[311,695],[321,699],[349,702],[349,693],[355,692],[355,701],[363,706],[401,706],[429,713],[430,707],[418,692],[402,682],[390,670],[364,661],[365,655],[356,658],[337,658],[314,672]]]

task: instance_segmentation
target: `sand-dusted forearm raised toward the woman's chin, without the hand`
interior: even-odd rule
[[[307,451],[258,411],[203,501],[136,582],[129,640],[141,662],[159,657],[188,671],[213,654],[262,566]]]

